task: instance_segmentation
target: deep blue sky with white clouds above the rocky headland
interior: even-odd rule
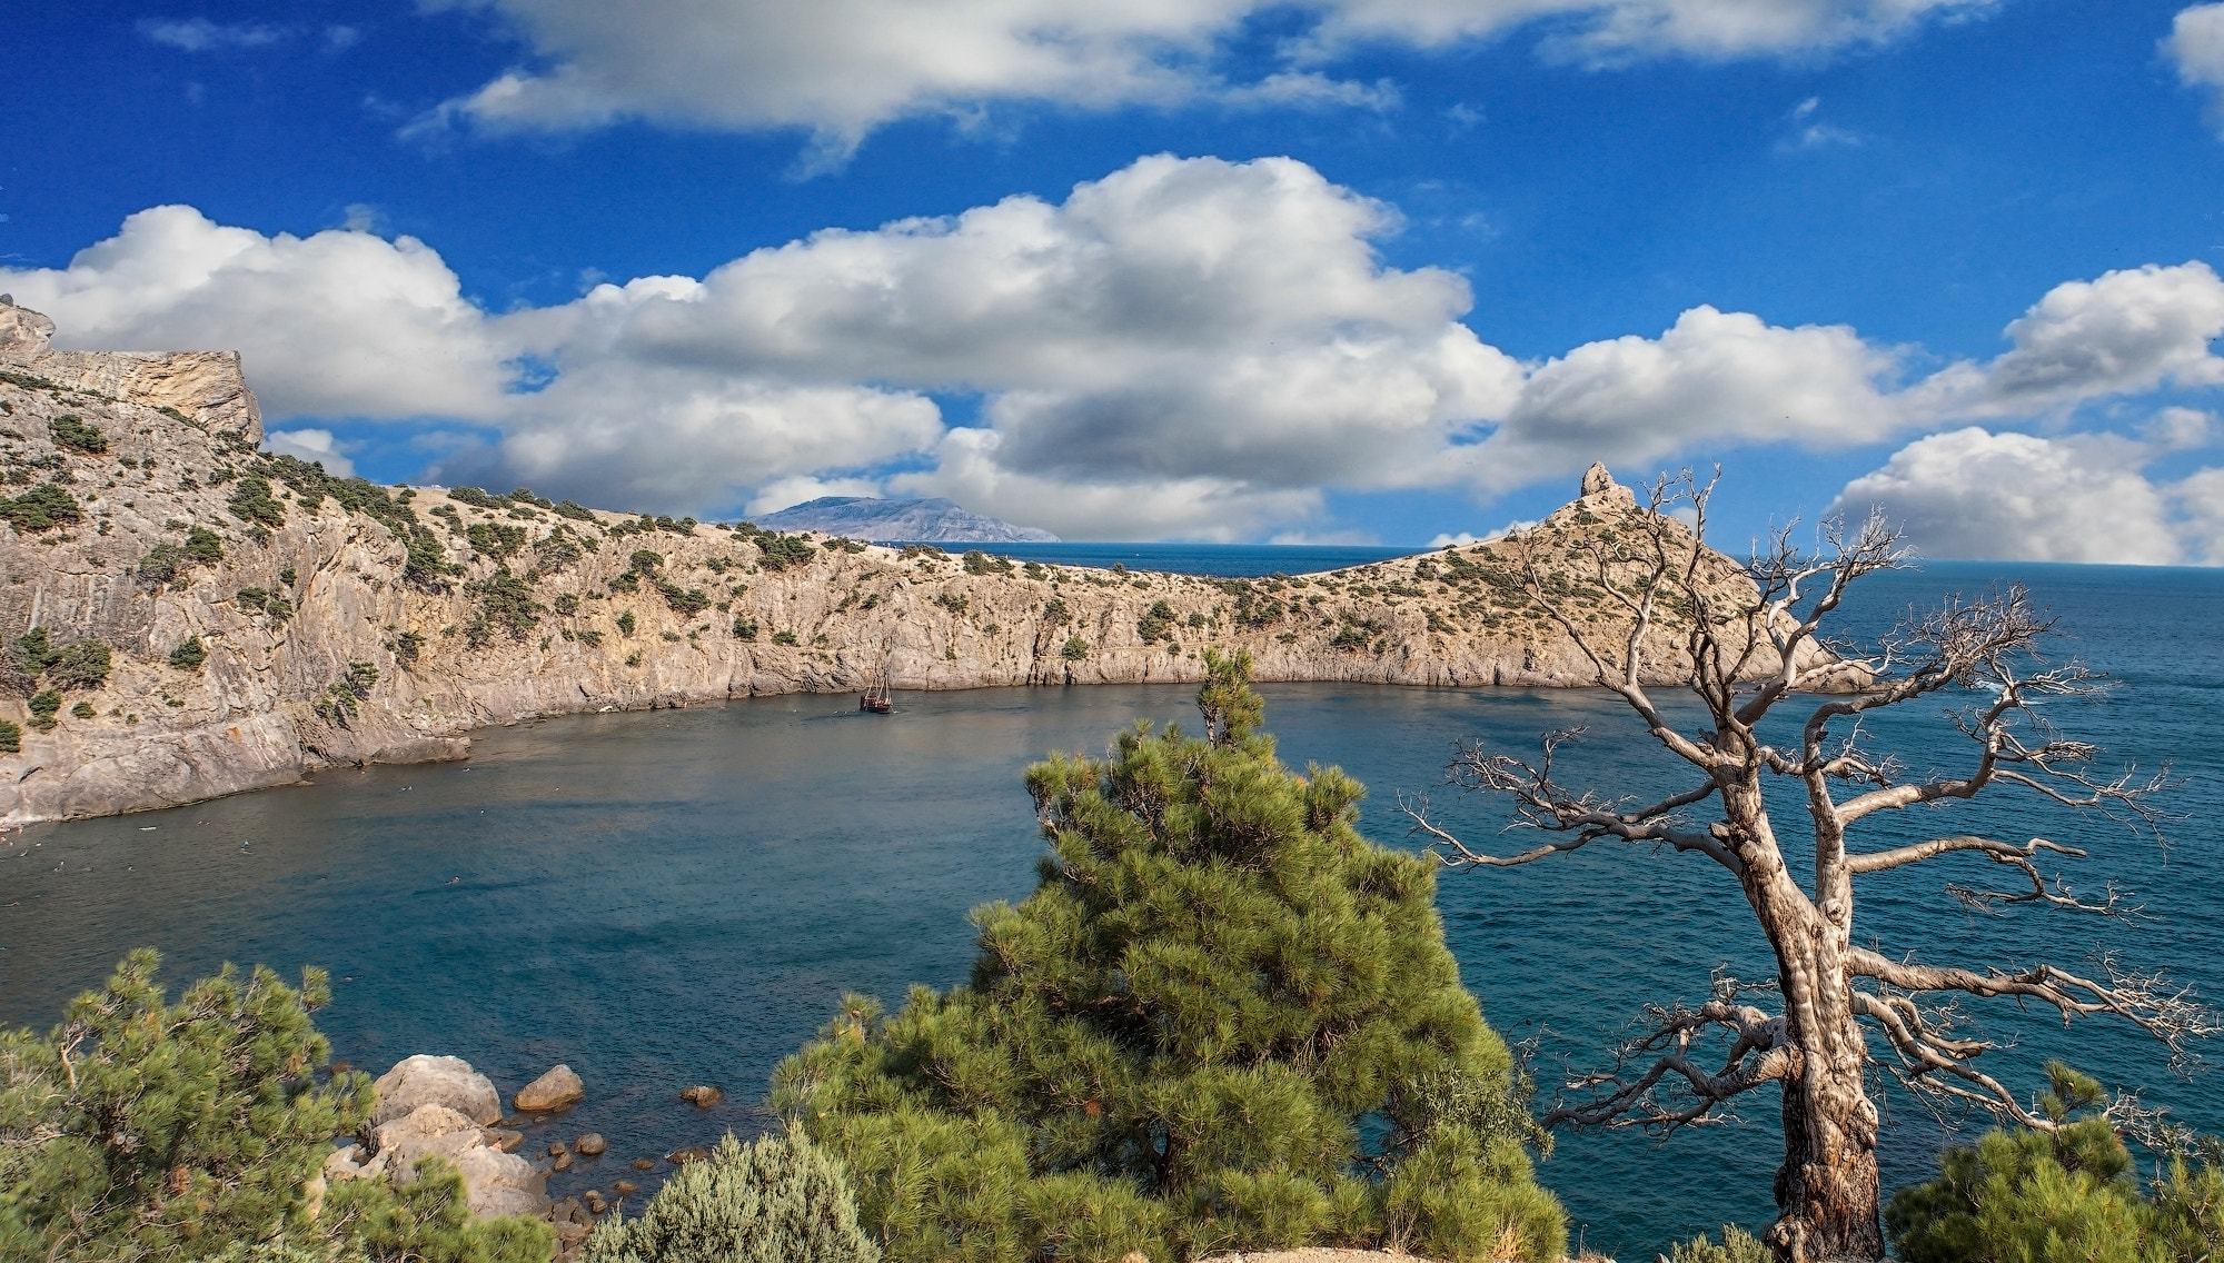
[[[2224,4],[13,7],[0,289],[274,445],[738,516],[2224,563]]]

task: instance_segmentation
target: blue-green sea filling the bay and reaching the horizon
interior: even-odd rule
[[[1103,547],[1114,545],[1030,545],[1027,556],[1210,574],[1301,574],[1319,560],[1161,545],[1105,558]],[[2224,571],[1933,563],[1857,587],[1841,634],[1875,638],[1910,611],[2015,583],[2055,618],[2048,654],[2111,683],[2106,696],[2046,703],[2048,723],[2097,743],[2097,769],[2168,769],[2162,838],[1990,794],[1870,818],[1855,845],[2044,836],[2091,852],[2051,874],[2082,894],[2113,883],[2139,916],[1975,912],[1948,885],[2002,869],[1950,858],[1866,878],[1857,934],[1926,963],[2053,961],[2097,974],[2113,961],[2224,1001]],[[1446,785],[1463,740],[1519,754],[1541,732],[1581,729],[1561,756],[1563,783],[1612,796],[1681,785],[1670,756],[1599,692],[1261,694],[1281,758],[1361,778],[1363,829],[1390,847],[1419,849],[1399,803],[1421,798],[1477,845],[1528,841],[1506,832],[1503,803]],[[1982,700],[1906,707],[1868,725],[1866,740],[1910,776],[1968,767],[1953,712]],[[1688,705],[1677,714],[1697,723]],[[320,965],[334,1001],[318,1023],[354,1065],[456,1054],[505,1094],[572,1065],[587,1101],[529,1145],[603,1132],[609,1154],[556,1176],[552,1192],[609,1192],[641,1179],[629,1158],[763,1130],[772,1067],[845,992],[896,1005],[910,985],[959,983],[974,954],[965,912],[1034,885],[1043,843],[1023,767],[1054,749],[1101,752],[1134,720],[1194,729],[1192,692],[898,692],[892,716],[858,714],[850,696],[567,716],[480,732],[465,763],[325,772],[193,807],[36,825],[0,845],[0,1025],[49,1027],[140,945],[162,949],[173,985],[227,961],[289,976]],[[1786,716],[1777,732],[1795,729]],[[1775,807],[1797,838],[1797,796]],[[1517,869],[1443,872],[1437,905],[1468,989],[1530,1058],[1539,1105],[1610,1065],[1646,1005],[1699,1003],[1717,972],[1770,972],[1737,885],[1699,856],[1595,843]],[[2224,1081],[2200,1061],[2224,1054],[2224,1041],[2173,1065],[2119,1021],[2064,1027],[2048,1010],[1999,1001],[1966,1001],[1962,1018],[1999,1045],[1984,1067],[2024,1096],[2059,1056],[2180,1123],[2224,1132]],[[676,1098],[692,1083],[727,1096],[694,1110]],[[1875,1098],[1888,1187],[1926,1179],[1942,1145],[1986,1125],[1933,1112],[1882,1074]],[[1630,1261],[1726,1221],[1766,1223],[1777,1161],[1775,1096],[1755,1092],[1735,1118],[1668,1136],[1563,1134],[1537,1176],[1570,1212],[1570,1245]]]

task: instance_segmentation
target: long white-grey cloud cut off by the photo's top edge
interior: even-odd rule
[[[600,127],[647,118],[801,127],[843,153],[874,127],[1034,100],[1072,107],[1394,102],[1317,73],[1352,44],[1421,49],[1548,24],[1543,51],[1586,64],[1650,56],[1806,56],[1893,40],[1995,0],[1323,0],[1283,40],[1288,67],[1223,82],[1221,47],[1268,0],[427,0],[505,16],[547,69],[512,69],[418,127]]]

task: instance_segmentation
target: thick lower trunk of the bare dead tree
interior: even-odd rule
[[[1828,905],[1826,905],[1828,907]],[[1846,934],[1826,916],[1775,938],[1799,1074],[1784,1083],[1784,1165],[1768,1243],[1779,1263],[1884,1259],[1877,1107],[1846,978]]]

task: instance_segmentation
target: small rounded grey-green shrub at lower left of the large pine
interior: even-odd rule
[[[638,1219],[603,1221],[580,1263],[878,1263],[838,1161],[798,1130],[741,1145],[665,1181]]]

